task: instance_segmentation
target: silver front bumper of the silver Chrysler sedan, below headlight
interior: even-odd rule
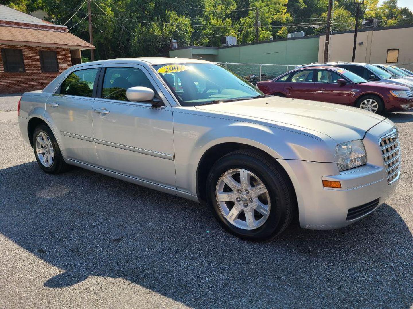
[[[367,164],[354,169],[339,172],[335,162],[309,162],[285,160],[287,173],[296,190],[300,225],[306,229],[337,229],[354,223],[377,207],[369,211],[357,212],[354,208],[385,203],[399,183],[399,176],[387,180],[379,138],[394,130],[394,124],[386,120],[370,129],[363,139],[367,153]],[[288,171],[288,169],[290,171]],[[342,188],[324,188],[322,180],[340,181]],[[349,210],[353,208],[350,212]],[[360,209],[360,208],[356,208]]]

